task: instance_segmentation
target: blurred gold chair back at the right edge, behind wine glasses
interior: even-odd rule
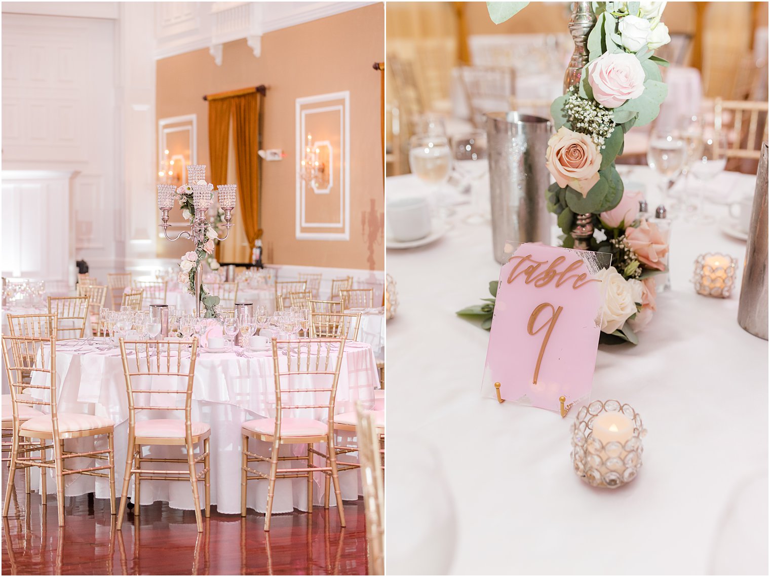
[[[732,126],[723,126],[723,114]],[[728,159],[758,160],[768,139],[768,102],[714,99],[714,128],[728,135]]]

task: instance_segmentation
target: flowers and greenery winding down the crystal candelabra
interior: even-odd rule
[[[206,182],[199,180],[199,185],[206,185]],[[209,190],[213,189],[213,185],[209,184]],[[213,196],[213,194],[212,194]],[[189,220],[192,226],[195,219],[195,205],[192,202],[192,186],[186,184],[179,186],[176,189],[176,197],[179,200],[179,206],[182,208],[182,218]],[[198,266],[205,260],[211,270],[219,269],[219,263],[214,257],[214,247],[219,243],[219,227],[223,224],[223,216],[225,212],[221,208],[217,208],[216,215],[209,221],[209,226],[206,227],[203,233],[203,240],[197,238],[193,239],[196,243],[195,250],[190,250],[185,253],[182,260],[179,261],[179,276],[177,280],[180,284],[184,285],[185,291],[192,296],[195,296],[195,271]],[[219,297],[215,297],[213,294],[209,294],[206,288],[203,287],[203,283],[200,285],[199,299],[206,307],[206,318],[216,317],[216,305],[219,304]]]

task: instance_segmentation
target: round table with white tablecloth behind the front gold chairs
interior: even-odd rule
[[[200,349],[203,351],[203,349]],[[49,353],[48,353],[49,354]],[[240,512],[240,451],[241,424],[260,417],[274,417],[275,386],[273,384],[273,357],[269,351],[247,353],[249,357],[238,357],[235,353],[213,354],[201,352],[196,361],[195,379],[192,391],[192,420],[203,421],[211,425],[211,503],[220,513],[235,514]],[[331,362],[334,362],[334,355]],[[46,360],[47,361],[47,360]],[[176,362],[176,361],[172,361]],[[182,367],[189,367],[189,361],[182,361]],[[35,377],[36,383],[39,377]],[[303,381],[303,387],[313,387],[319,377]],[[323,377],[321,377],[323,378]],[[126,381],[123,375],[120,351],[111,348],[99,351],[97,347],[69,341],[56,351],[56,382],[59,387],[59,412],[96,414],[108,417],[115,422],[115,491],[120,495],[122,478],[126,467],[126,449],[128,443],[128,398]],[[326,386],[327,381],[316,386]],[[142,384],[144,387],[145,384]],[[294,385],[293,385],[294,386]],[[343,353],[342,367],[336,392],[336,413],[354,411],[356,402],[361,401],[363,408],[373,408],[375,386],[379,386],[377,366],[372,349],[368,344],[347,342]],[[169,387],[167,377],[153,377],[149,388],[165,389]],[[314,402],[326,402],[327,393],[310,393],[318,396]],[[323,395],[323,398],[321,398]],[[160,395],[159,395],[160,396]],[[308,402],[303,394],[303,403]],[[272,400],[271,400],[272,399]],[[168,401],[155,400],[155,404]],[[148,414],[149,413],[149,414]],[[183,418],[181,411],[139,411],[142,418]],[[300,414],[302,413],[302,414]],[[302,409],[290,411],[293,417],[316,418],[326,421],[323,409]],[[346,443],[350,438],[343,436],[338,441]],[[106,438],[96,441],[99,447],[106,446]],[[255,444],[256,443],[256,444]],[[78,448],[86,451],[94,446],[93,438],[65,441],[65,449]],[[269,444],[252,440],[249,447],[261,455],[269,455]],[[316,447],[319,448],[320,447]],[[296,451],[298,459],[305,460],[305,448],[300,445],[285,445],[282,455]],[[145,456],[181,457],[183,448],[153,446],[144,449]],[[302,456],[300,456],[302,455]],[[344,459],[343,459],[344,460]],[[82,460],[83,466],[89,461]],[[286,461],[293,463],[293,461]],[[156,464],[158,465],[158,464]],[[263,464],[253,464],[263,470]],[[321,465],[320,461],[316,465]],[[75,465],[69,465],[74,467]],[[179,468],[179,465],[171,465]],[[291,465],[281,465],[286,468]],[[302,465],[303,466],[303,465]],[[268,471],[267,468],[264,468]],[[314,501],[323,503],[323,476],[316,474]],[[340,473],[343,498],[354,500],[360,494],[358,470]],[[39,477],[34,475],[33,488],[39,488]],[[55,493],[55,481],[49,476],[49,493]],[[95,491],[97,498],[109,498],[109,485],[106,479],[73,475],[67,479],[65,495],[82,495]],[[199,486],[203,498],[203,484]],[[129,488],[133,495],[133,488]],[[155,501],[169,502],[173,508],[192,509],[192,491],[189,481],[142,481],[142,505]],[[265,512],[267,502],[267,483],[249,482],[247,504],[258,512]],[[334,498],[330,499],[334,505]],[[273,501],[273,513],[291,512],[294,508],[307,508],[306,480],[284,479],[276,481]],[[202,502],[203,506],[203,502]]]

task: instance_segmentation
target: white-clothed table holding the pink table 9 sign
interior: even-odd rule
[[[654,210],[651,171],[619,169]],[[736,200],[754,186],[754,176],[721,173],[707,192]],[[387,179],[389,195],[415,187],[413,176]],[[430,548],[454,557],[455,574],[767,574],[768,341],[736,320],[745,242],[721,232],[727,206],[706,208],[717,223],[673,223],[672,290],[658,293],[639,344],[599,346],[591,399],[631,404],[649,431],[638,478],[616,490],[572,471],[577,407],[562,419],[481,394],[489,333],[455,311],[489,297],[497,280],[490,227],[464,223],[458,209],[441,240],[388,251],[399,301],[387,331],[398,360],[388,365],[388,476],[410,479],[388,485],[391,568]],[[738,259],[728,299],[702,297],[690,282],[695,257],[709,251]],[[443,478],[415,465],[418,446]],[[418,486],[447,495],[434,510],[454,512],[455,542],[435,543],[450,522],[421,518],[430,509]]]

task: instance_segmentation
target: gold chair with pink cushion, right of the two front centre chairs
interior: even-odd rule
[[[332,428],[334,416],[334,399],[337,382],[340,378],[340,367],[345,347],[344,339],[308,339],[291,341],[273,338],[273,374],[276,387],[276,418],[255,419],[246,421],[241,427],[243,449],[241,455],[241,516],[246,516],[246,484],[254,479],[269,481],[267,488],[267,508],[265,514],[265,531],[270,530],[270,516],[273,512],[273,495],[276,479],[307,478],[307,509],[313,512],[313,474],[321,472],[331,477],[336,496],[337,514],[340,515],[340,525],[345,526],[340,479],[337,473],[336,451],[334,448],[334,431]],[[283,361],[279,356],[279,347],[292,347],[292,351]],[[336,359],[332,360],[336,348]],[[303,387],[308,377],[313,377],[313,388]],[[320,381],[331,381],[321,384]],[[299,386],[292,388],[292,384]],[[308,395],[307,393],[312,393]],[[328,394],[325,402],[317,400],[321,394]],[[284,415],[285,411],[314,411],[323,412],[326,423],[310,418],[292,418]],[[266,441],[272,444],[270,456],[257,455],[249,451],[249,438]],[[326,443],[326,454],[316,451],[313,444]],[[306,444],[306,467],[278,469],[280,461],[298,461],[294,455],[281,457],[280,447],[283,444]],[[313,463],[313,455],[327,458],[326,466],[319,467]],[[249,463],[269,463],[268,474],[249,467]],[[326,493],[328,503],[328,491]],[[328,506],[326,507],[328,508]]]

